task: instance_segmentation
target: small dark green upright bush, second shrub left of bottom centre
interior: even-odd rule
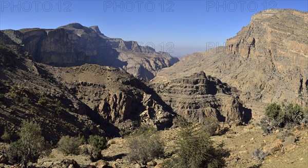
[[[98,135],[90,135],[88,143],[90,144],[89,154],[91,156],[91,159],[101,159],[101,151],[107,148],[107,139]]]

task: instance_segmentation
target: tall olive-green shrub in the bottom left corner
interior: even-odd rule
[[[23,121],[20,139],[12,142],[6,150],[6,156],[11,163],[21,163],[27,167],[29,162],[37,162],[38,157],[49,155],[51,146],[42,136],[42,130],[34,121]]]

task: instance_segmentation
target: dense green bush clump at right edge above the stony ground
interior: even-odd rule
[[[265,133],[273,130],[286,128],[291,129],[296,124],[307,123],[307,112],[299,104],[283,101],[281,104],[271,103],[265,108],[265,117],[261,119],[260,125]]]

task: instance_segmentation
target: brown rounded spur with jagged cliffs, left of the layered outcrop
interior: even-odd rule
[[[172,110],[145,83],[125,71],[98,65],[50,68],[76,97],[119,129],[142,123],[171,127]]]

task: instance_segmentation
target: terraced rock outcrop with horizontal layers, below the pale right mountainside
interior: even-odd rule
[[[251,119],[236,89],[203,71],[163,82],[155,80],[152,85],[174,112],[189,121],[203,122],[205,117],[219,121]]]

